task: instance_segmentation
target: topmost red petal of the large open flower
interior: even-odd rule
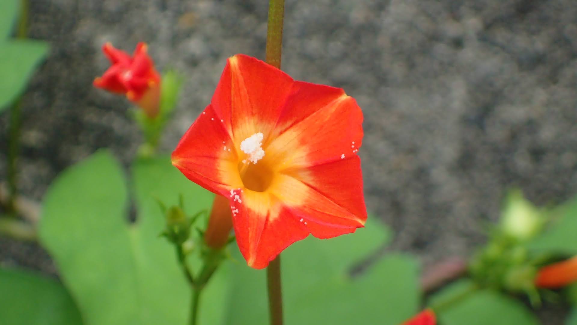
[[[257,132],[265,135],[266,142],[293,83],[290,76],[272,65],[237,54],[228,58],[212,105],[237,145]]]

